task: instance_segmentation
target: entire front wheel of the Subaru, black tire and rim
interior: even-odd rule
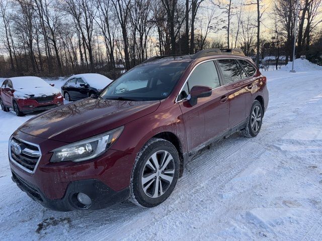
[[[130,201],[146,208],[164,202],[177,184],[179,169],[179,154],[174,145],[164,139],[150,139],[134,162]]]

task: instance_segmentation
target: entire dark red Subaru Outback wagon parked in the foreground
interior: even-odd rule
[[[9,142],[13,180],[54,210],[153,207],[198,150],[236,131],[255,137],[267,105],[266,77],[240,50],[153,57],[22,125]]]

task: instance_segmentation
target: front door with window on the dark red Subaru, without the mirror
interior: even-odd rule
[[[195,85],[211,87],[212,94],[209,97],[198,98],[197,104],[191,106],[186,96]],[[200,63],[190,73],[178,96],[190,152],[199,149],[228,129],[229,106],[225,93],[226,89],[221,86],[213,61]]]

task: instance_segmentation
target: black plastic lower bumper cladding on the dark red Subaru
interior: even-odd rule
[[[71,211],[77,209],[84,209],[81,203],[77,201],[76,195],[79,192],[87,194],[92,204],[89,210],[101,209],[111,206],[113,204],[122,202],[130,197],[130,188],[127,187],[121,191],[114,191],[106,186],[104,183],[97,179],[88,179],[81,181],[74,181],[69,183],[65,195],[61,199],[49,199],[43,194],[40,189],[26,180],[19,177],[12,172],[12,180],[17,186],[33,200],[41,203],[44,207],[47,207],[56,211]]]

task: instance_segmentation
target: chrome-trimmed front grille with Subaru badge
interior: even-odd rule
[[[9,147],[10,159],[29,173],[33,173],[41,157],[39,147],[35,144],[12,137]]]

